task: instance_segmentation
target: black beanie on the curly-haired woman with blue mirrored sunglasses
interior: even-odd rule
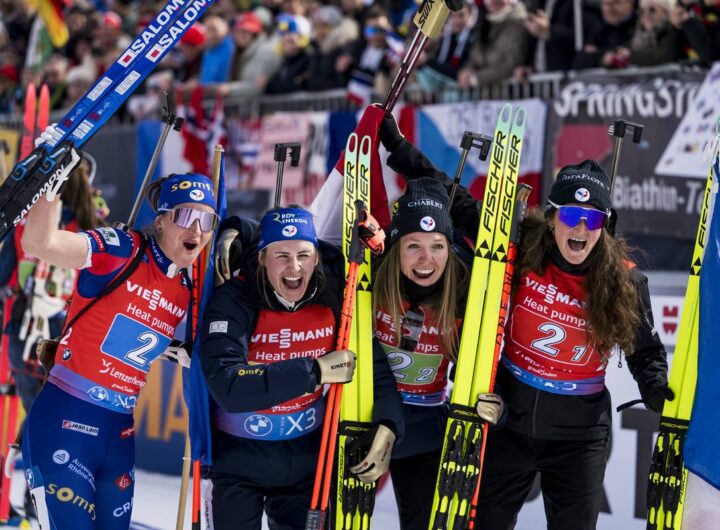
[[[548,200],[557,205],[584,203],[609,212],[612,208],[610,177],[594,160],[565,166],[558,173]]]

